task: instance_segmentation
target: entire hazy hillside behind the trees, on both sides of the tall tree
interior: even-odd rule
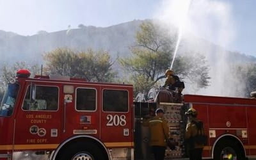
[[[39,31],[33,36],[0,31],[0,64],[26,61],[40,65],[43,63],[42,55],[57,47],[69,47],[76,51],[86,51],[88,48],[102,49],[108,51],[113,60],[117,56],[131,56],[129,47],[136,44],[135,35],[136,31],[140,29],[141,22],[143,20],[133,20],[107,28],[79,25],[79,28],[76,29],[52,33]],[[210,86],[207,90],[202,90],[202,94],[236,96],[234,89],[241,86],[239,83],[243,80],[232,77],[230,68],[236,63],[256,62],[256,58],[253,56],[227,51],[202,38],[193,35],[182,37],[177,55],[198,53],[205,55],[211,77]],[[117,63],[115,63],[114,69],[120,75],[123,73]],[[231,90],[227,91],[227,87]],[[189,89],[188,85],[185,92],[196,93],[193,88]]]

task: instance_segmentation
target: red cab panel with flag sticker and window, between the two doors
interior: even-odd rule
[[[74,86],[74,93],[64,95],[63,140],[70,136],[88,135],[99,138],[99,87]]]

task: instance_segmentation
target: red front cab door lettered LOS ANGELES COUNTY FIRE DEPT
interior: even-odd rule
[[[60,139],[60,87],[36,84],[31,90],[30,86],[15,119],[14,149],[54,149]]]

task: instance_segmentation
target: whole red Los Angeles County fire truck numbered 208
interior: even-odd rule
[[[133,99],[132,85],[92,83],[19,70],[0,106],[0,159],[151,159],[141,118],[163,108],[176,146],[166,159],[186,158],[185,111],[195,108],[208,136],[203,156],[256,156],[256,100],[184,95],[152,88]],[[134,102],[135,101],[135,102]]]

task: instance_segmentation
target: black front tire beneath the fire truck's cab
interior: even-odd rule
[[[95,143],[84,143],[77,142],[68,145],[61,150],[56,156],[57,160],[72,160],[72,159],[82,159],[80,156],[86,157],[90,160],[108,160],[108,157],[104,154],[104,151],[100,149]]]

